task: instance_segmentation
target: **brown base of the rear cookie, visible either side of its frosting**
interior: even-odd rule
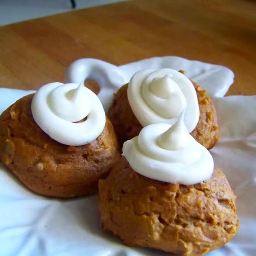
[[[210,149],[219,139],[219,129],[217,123],[217,114],[214,103],[206,95],[206,90],[203,90],[199,85],[193,82],[196,89],[196,95],[199,102],[200,117],[195,129],[191,135],[197,142],[204,147]],[[109,108],[109,119],[111,120],[120,144],[126,140],[132,139],[139,135],[143,128],[132,112],[127,97],[127,86],[122,86],[116,94],[112,105]]]

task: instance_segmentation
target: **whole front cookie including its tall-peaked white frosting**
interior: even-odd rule
[[[236,196],[182,116],[173,126],[144,127],[99,181],[102,228],[128,246],[195,256],[237,232]]]

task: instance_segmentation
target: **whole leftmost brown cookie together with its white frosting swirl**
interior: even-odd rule
[[[0,159],[38,194],[93,193],[119,158],[113,126],[83,85],[46,84],[0,116]]]

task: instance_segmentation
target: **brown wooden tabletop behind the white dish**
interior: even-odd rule
[[[176,55],[231,68],[230,94],[256,94],[254,0],[135,0],[0,27],[0,85],[63,82],[81,57],[125,64]]]

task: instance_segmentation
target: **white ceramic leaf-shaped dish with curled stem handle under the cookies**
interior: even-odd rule
[[[211,256],[256,255],[256,96],[223,97],[233,82],[228,68],[179,57],[158,57],[120,67],[98,60],[71,64],[66,80],[94,78],[107,109],[112,93],[145,68],[184,69],[207,89],[217,108],[221,137],[211,150],[215,165],[226,174],[237,195],[240,229],[234,239]],[[33,91],[0,89],[0,113]],[[0,164],[1,256],[164,256],[165,252],[129,248],[99,224],[97,196],[58,200],[38,196]]]

